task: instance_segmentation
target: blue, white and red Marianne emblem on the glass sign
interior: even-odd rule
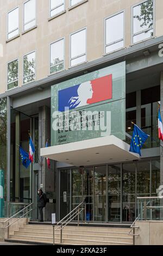
[[[58,111],[112,99],[112,75],[77,84],[58,92]]]

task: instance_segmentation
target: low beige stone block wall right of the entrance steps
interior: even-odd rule
[[[163,221],[137,221],[135,245],[163,245]]]

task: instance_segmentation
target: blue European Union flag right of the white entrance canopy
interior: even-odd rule
[[[131,138],[130,152],[137,153],[141,156],[141,148],[146,142],[149,135],[143,132],[137,125],[134,124],[133,137]]]

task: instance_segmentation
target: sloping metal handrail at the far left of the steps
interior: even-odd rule
[[[13,216],[11,216],[10,218],[8,218],[7,220],[5,220],[4,222],[1,222],[1,223],[4,223],[4,227],[0,227],[0,228],[3,228],[3,229],[7,229],[8,228],[8,238],[9,238],[9,227],[14,224],[15,222],[18,222],[20,221],[20,219],[24,216],[26,216],[27,214],[29,214],[29,212],[31,212],[33,209],[30,209],[28,210],[28,208],[30,208],[30,206],[32,206],[33,203],[27,205],[25,208],[23,208],[21,211],[18,211],[16,214],[14,214]],[[16,218],[17,215],[20,215],[21,213],[23,213],[23,215],[21,216],[18,216],[18,218]],[[10,220],[12,218],[16,218],[16,220],[14,220],[13,222],[9,223]],[[5,223],[8,223],[7,226],[5,226]]]

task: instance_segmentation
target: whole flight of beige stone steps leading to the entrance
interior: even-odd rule
[[[129,231],[129,228],[67,225],[62,230],[62,245],[133,245],[133,236],[128,235]],[[53,227],[45,224],[24,224],[5,241],[51,245],[53,244]],[[60,245],[60,231],[57,230],[55,230],[55,244]]]

